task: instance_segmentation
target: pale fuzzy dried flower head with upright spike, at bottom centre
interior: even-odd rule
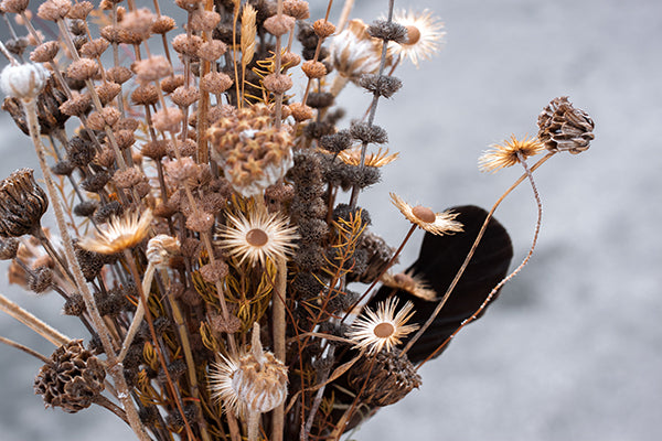
[[[209,385],[212,398],[223,400],[225,411],[265,413],[285,402],[287,366],[263,349],[256,322],[250,352],[236,359],[221,355],[209,374]]]

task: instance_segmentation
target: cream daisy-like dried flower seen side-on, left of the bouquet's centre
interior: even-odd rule
[[[140,244],[147,236],[152,220],[151,209],[134,212],[121,217],[114,216],[107,224],[99,226],[94,237],[79,241],[81,248],[103,255],[114,255]]]

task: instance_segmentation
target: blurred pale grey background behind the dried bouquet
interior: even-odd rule
[[[313,3],[321,13],[322,2]],[[353,15],[367,22],[386,8],[385,0],[357,3]],[[521,171],[482,174],[478,157],[511,133],[535,135],[537,115],[552,98],[567,95],[586,110],[596,139],[587,152],[557,154],[535,173],[544,217],[528,267],[421,369],[419,390],[352,438],[660,440],[662,2],[426,0],[396,1],[396,8],[434,10],[447,35],[442,51],[420,68],[398,67],[404,87],[377,108],[375,122],[388,130],[388,147],[401,159],[383,169],[382,183],[360,204],[393,246],[408,225],[388,192],[438,211],[489,208]],[[342,95],[349,125],[370,97],[352,85]],[[36,168],[29,138],[4,114],[0,139],[1,178]],[[496,212],[513,239],[513,267],[530,246],[535,214],[526,185]],[[420,238],[405,249],[402,268],[416,258]],[[58,297],[38,298],[4,281],[0,291],[70,336],[87,336],[60,315]],[[53,351],[8,316],[0,316],[0,335]],[[39,367],[0,346],[2,440],[130,438],[103,409],[44,410],[32,395]]]

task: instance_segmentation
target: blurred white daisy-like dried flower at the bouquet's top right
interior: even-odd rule
[[[430,58],[439,51],[440,42],[446,32],[444,23],[428,10],[423,12],[399,11],[393,21],[407,29],[407,40],[402,43],[391,43],[388,50],[399,60],[409,58],[418,67],[420,60]]]

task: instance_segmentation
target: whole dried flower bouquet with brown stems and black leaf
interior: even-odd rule
[[[0,182],[0,257],[10,282],[55,291],[89,335],[72,340],[0,295],[56,348],[1,341],[44,363],[34,389],[46,407],[103,406],[140,440],[338,440],[397,402],[531,257],[532,173],[594,138],[588,115],[555,98],[536,138],[480,159],[524,171],[489,213],[392,194],[412,223],[395,249],[359,196],[397,159],[377,104],[401,88],[401,63],[438,49],[431,13],[389,1],[366,25],[349,20],[351,0],[335,24],[331,1],[317,21],[303,0],[175,0],[175,18],[157,0],[46,0],[35,17],[28,3],[0,2],[13,35],[0,85],[45,190],[31,169]],[[349,84],[372,99],[341,128],[334,100]],[[525,180],[538,222],[509,275],[492,214]],[[49,207],[57,233],[42,228]],[[416,228],[418,259],[391,272]]]

